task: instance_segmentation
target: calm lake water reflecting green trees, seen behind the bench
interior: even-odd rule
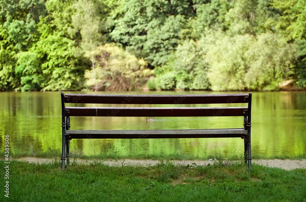
[[[65,92],[84,93],[84,92]],[[231,94],[247,92],[159,91],[159,92],[85,92],[98,94]],[[306,153],[306,92],[252,92],[252,156]],[[79,106],[97,106],[79,104]],[[100,105],[101,106],[101,105]],[[104,105],[105,106],[105,105]],[[107,105],[110,106],[110,105]],[[114,105],[116,106],[116,105]],[[161,107],[162,105],[155,105]],[[169,105],[168,105],[169,106]],[[186,105],[190,106],[190,105]],[[192,107],[226,107],[192,105]],[[235,106],[245,106],[236,104]],[[127,107],[139,107],[127,105]],[[153,105],[150,105],[153,107]],[[171,106],[169,106],[171,107]],[[182,106],[183,107],[183,106]],[[72,117],[71,129],[213,129],[241,128],[242,117]],[[60,92],[0,92],[0,148],[9,134],[13,151],[42,151],[61,148],[62,118]],[[191,154],[230,156],[244,151],[241,138],[181,139],[78,139],[70,144],[73,152],[99,154]],[[59,155],[61,155],[59,153]]]

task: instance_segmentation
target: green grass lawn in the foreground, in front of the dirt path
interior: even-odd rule
[[[59,161],[12,161],[9,168],[9,201],[306,201],[305,169],[253,164],[247,171],[244,163],[221,160],[147,167],[72,161],[64,171]],[[0,201],[8,201],[3,192]]]

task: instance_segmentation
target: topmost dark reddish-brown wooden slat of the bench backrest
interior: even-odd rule
[[[96,104],[223,104],[223,103],[248,103],[248,94],[224,94],[224,95],[92,95],[92,94],[65,94],[65,103],[96,103]]]

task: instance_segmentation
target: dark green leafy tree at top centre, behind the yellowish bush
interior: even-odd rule
[[[191,1],[120,1],[110,36],[153,66],[165,64],[175,50],[185,21],[196,13]],[[112,15],[116,16],[117,15]]]

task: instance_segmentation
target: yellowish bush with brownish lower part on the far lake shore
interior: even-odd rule
[[[84,74],[86,85],[92,90],[135,90],[152,74],[152,70],[146,69],[146,61],[114,43],[97,47],[94,58],[97,67]]]

